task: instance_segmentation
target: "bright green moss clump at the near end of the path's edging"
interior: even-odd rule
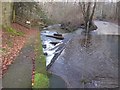
[[[45,88],[49,86],[48,77],[41,73],[35,74],[34,87],[33,88]]]

